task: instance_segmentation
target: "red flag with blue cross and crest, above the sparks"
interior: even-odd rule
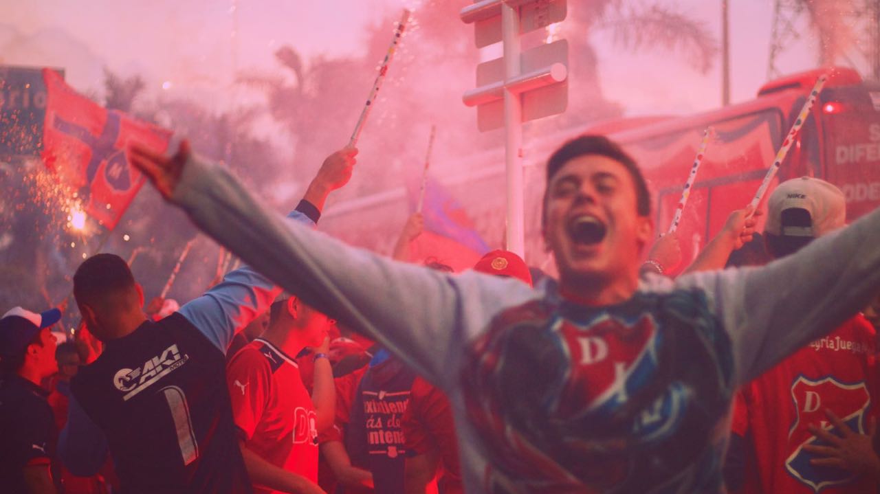
[[[43,161],[77,191],[86,214],[114,229],[145,181],[128,162],[128,143],[165,151],[172,133],[95,104],[51,69],[43,69],[43,79],[48,94]]]

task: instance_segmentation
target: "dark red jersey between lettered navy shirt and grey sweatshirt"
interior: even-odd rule
[[[440,491],[444,494],[464,492],[458,469],[458,440],[449,398],[428,381],[416,376],[409,394],[409,406],[403,413],[400,428],[410,454],[425,454],[436,449],[443,461]]]

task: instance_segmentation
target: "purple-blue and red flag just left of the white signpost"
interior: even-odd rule
[[[421,183],[415,180],[407,186],[411,211],[415,211],[420,187]],[[411,244],[411,260],[423,262],[426,258],[436,258],[456,271],[463,271],[472,268],[489,251],[465,208],[430,176],[425,183],[422,215],[425,229]]]

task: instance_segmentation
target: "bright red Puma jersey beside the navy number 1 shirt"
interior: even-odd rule
[[[315,407],[297,362],[256,338],[226,366],[235,425],[260,458],[318,482]],[[254,492],[274,492],[254,486]]]

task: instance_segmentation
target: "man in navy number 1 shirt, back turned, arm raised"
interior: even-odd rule
[[[348,182],[355,154],[343,149],[328,157],[290,218],[316,222],[326,196]],[[124,260],[99,254],[84,261],[74,295],[105,349],[71,382],[59,444],[71,472],[92,475],[109,449],[126,492],[250,492],[225,352],[280,291],[244,266],[153,322]]]

